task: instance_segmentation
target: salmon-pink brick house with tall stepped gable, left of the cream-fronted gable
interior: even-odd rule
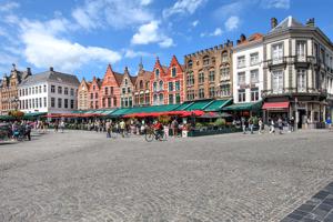
[[[100,108],[120,107],[120,85],[122,78],[123,74],[114,72],[111,64],[108,65],[100,88]]]

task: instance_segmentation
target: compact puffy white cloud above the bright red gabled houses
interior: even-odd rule
[[[138,32],[132,37],[132,44],[149,44],[159,43],[162,48],[173,46],[173,40],[165,34],[161,33],[159,29],[159,21],[151,21],[147,24],[139,27]]]

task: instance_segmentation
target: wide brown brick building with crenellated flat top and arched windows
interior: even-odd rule
[[[184,58],[185,100],[232,98],[232,48],[226,41]]]

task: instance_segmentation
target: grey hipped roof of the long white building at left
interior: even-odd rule
[[[78,80],[77,75],[50,71],[50,70],[28,77],[26,80],[22,81],[22,85],[34,84],[44,81],[56,81],[59,83],[80,85],[80,81]]]

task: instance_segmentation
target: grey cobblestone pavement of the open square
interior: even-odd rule
[[[333,181],[333,133],[0,145],[0,221],[281,221]]]

